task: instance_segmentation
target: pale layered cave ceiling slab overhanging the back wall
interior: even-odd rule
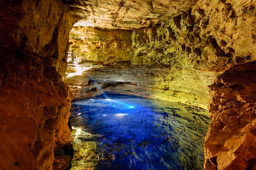
[[[191,8],[197,0],[63,0],[81,26],[98,29],[139,29]]]

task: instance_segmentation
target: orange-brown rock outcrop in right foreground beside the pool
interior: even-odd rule
[[[209,87],[211,124],[205,138],[205,169],[255,168],[255,61],[237,65]]]

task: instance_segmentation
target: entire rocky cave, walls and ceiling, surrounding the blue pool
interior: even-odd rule
[[[255,169],[255,4],[0,0],[0,169],[70,169],[74,103],[103,94],[202,109],[200,168]]]

